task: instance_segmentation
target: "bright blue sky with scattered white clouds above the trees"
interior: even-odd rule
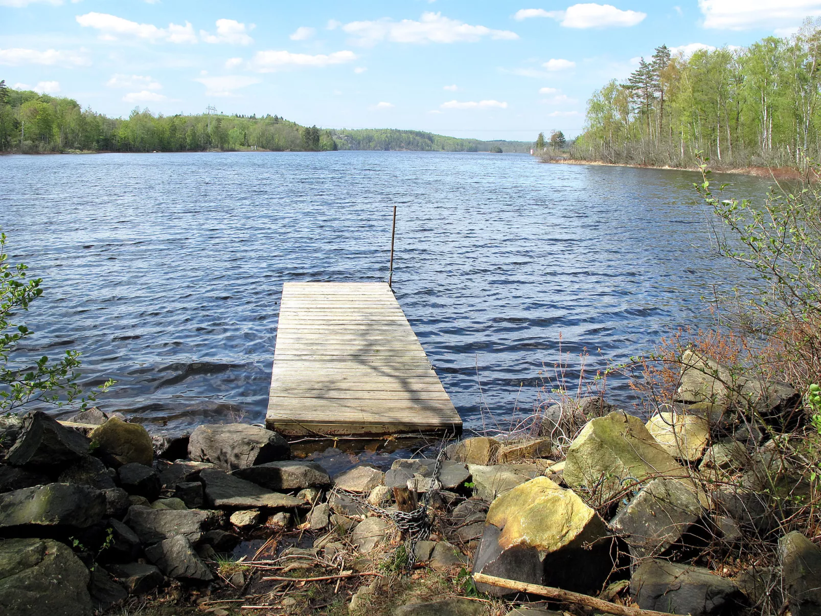
[[[276,113],[324,127],[575,136],[654,47],[787,35],[821,0],[0,0],[0,79],[95,111]]]

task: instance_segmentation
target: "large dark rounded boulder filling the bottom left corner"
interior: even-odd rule
[[[91,616],[89,570],[50,539],[0,541],[0,614]]]

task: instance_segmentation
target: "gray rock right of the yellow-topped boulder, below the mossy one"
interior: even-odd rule
[[[610,522],[635,559],[657,557],[699,521],[701,505],[690,486],[659,477],[649,482]]]

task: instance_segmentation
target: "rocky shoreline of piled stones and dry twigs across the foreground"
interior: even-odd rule
[[[0,613],[590,613],[525,583],[612,614],[821,614],[800,394],[688,353],[647,421],[584,398],[335,476],[256,425],[0,418]]]

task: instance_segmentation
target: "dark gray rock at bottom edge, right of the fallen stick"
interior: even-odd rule
[[[745,605],[735,582],[701,567],[651,559],[640,564],[630,581],[630,592],[641,609],[671,614],[732,614]]]

